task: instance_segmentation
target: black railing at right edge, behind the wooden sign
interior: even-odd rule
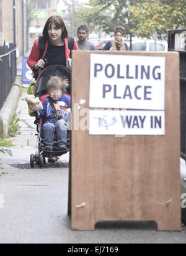
[[[168,48],[180,54],[181,157],[186,160],[186,29],[168,31]]]

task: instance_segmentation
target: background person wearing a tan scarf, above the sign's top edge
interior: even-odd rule
[[[117,26],[114,29],[115,39],[108,41],[103,50],[130,50],[123,40],[125,35],[125,27]]]

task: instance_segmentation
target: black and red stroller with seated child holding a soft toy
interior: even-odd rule
[[[37,152],[30,155],[30,164],[41,167],[46,163],[56,161],[59,156],[69,151],[69,113],[71,98],[64,94],[70,83],[71,71],[64,66],[54,65],[47,67],[40,73],[35,83],[35,96],[40,98],[42,107],[30,105],[30,97],[26,97],[29,108],[36,115],[37,125]],[[28,95],[29,96],[29,95]],[[33,95],[32,95],[33,97]],[[38,107],[38,105],[37,105]]]

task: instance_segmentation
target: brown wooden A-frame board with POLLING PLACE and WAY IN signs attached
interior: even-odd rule
[[[125,71],[124,66],[122,66],[125,61],[120,62],[121,65],[113,64],[113,55],[116,59],[118,55],[126,58]],[[91,56],[95,57],[95,62],[92,62]],[[139,58],[139,65],[134,64],[132,70],[130,65],[133,64],[133,61],[130,64],[130,59],[132,60],[135,56]],[[148,63],[144,65],[144,57],[152,58],[149,65]],[[156,80],[160,75],[161,64],[158,64],[157,58],[157,64],[151,67],[155,60],[153,57],[161,57],[165,60],[161,74],[164,75],[164,85],[162,85],[164,89],[162,91],[158,89],[157,92],[156,85],[159,86],[159,83]],[[97,61],[99,59],[100,62]],[[110,62],[107,59],[110,59]],[[120,70],[114,70],[117,68]],[[90,69],[95,70],[91,71]],[[138,74],[135,75],[134,70],[138,71]],[[94,72],[92,80],[99,78],[100,75],[100,81],[104,81],[104,75],[106,77],[105,83],[100,82],[102,87],[100,94],[99,85],[96,83],[99,80],[95,80],[95,83],[91,84],[92,72]],[[104,72],[102,77],[101,72]],[[149,86],[150,76],[155,81],[154,87]],[[107,78],[121,78],[121,80],[123,78],[123,83],[121,82],[120,87],[117,88],[117,82],[115,82],[114,87],[113,80],[109,84]],[[126,90],[121,96],[122,84],[124,85],[126,81],[125,85],[132,85],[130,83],[132,78],[135,79],[133,82],[136,87],[133,87],[133,95],[136,98],[132,99],[132,92]],[[141,83],[143,83],[142,78],[144,78],[146,82],[140,87],[140,83],[138,83],[140,81],[136,82],[136,78],[141,79]],[[129,90],[129,88],[127,89]],[[144,89],[143,93],[142,89]],[[71,133],[68,209],[71,213],[71,228],[73,230],[94,230],[96,222],[100,220],[153,220],[157,223],[158,230],[180,230],[179,54],[176,52],[74,51],[71,92],[73,129]],[[94,94],[95,98],[91,97],[90,92]],[[112,92],[113,96],[111,96]],[[100,97],[104,100],[110,98],[107,103],[102,103]],[[108,133],[109,127],[101,127],[100,118],[98,118],[98,128],[105,129],[104,131],[97,130],[95,127],[98,124],[97,121],[95,125],[94,123],[90,125],[92,134],[87,129],[89,121],[91,121],[89,120],[89,110],[95,111],[95,108],[97,110],[99,107],[103,110],[110,104],[112,110],[115,107],[120,108],[118,101],[122,101],[125,105],[125,99],[153,100],[153,97],[161,98],[157,108],[158,113],[163,113],[161,118],[164,118],[161,119],[164,126],[162,125],[162,130],[159,130],[157,135],[151,135],[150,123],[149,128],[142,131],[141,135],[138,135],[140,133],[138,123],[134,123],[133,127],[128,127],[129,133],[131,133],[131,128],[136,128],[134,134],[132,132],[131,135],[115,136],[112,132],[110,135],[104,134],[106,130]],[[156,101],[154,101],[155,106]],[[150,111],[157,110],[154,109],[153,102],[152,105],[149,103],[144,108],[148,110],[148,106]],[[139,113],[136,107],[138,108],[138,104],[135,105],[135,109],[132,109],[131,113],[134,111]],[[143,104],[139,108],[141,107]],[[143,111],[144,108],[142,108]],[[95,121],[96,119],[93,118],[92,120]],[[128,120],[132,119],[128,118]],[[141,120],[144,121],[145,118],[141,118]],[[115,123],[118,122],[115,121],[112,126]],[[130,121],[127,122],[127,125],[128,123]],[[158,121],[157,124],[159,124]],[[144,128],[144,123],[141,125],[143,125],[141,128]],[[119,130],[120,127],[118,126]],[[121,135],[119,133],[118,135]]]

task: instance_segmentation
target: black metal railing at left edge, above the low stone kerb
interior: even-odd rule
[[[16,50],[14,44],[0,46],[0,109],[6,101],[16,75]],[[11,104],[11,103],[10,103]]]

